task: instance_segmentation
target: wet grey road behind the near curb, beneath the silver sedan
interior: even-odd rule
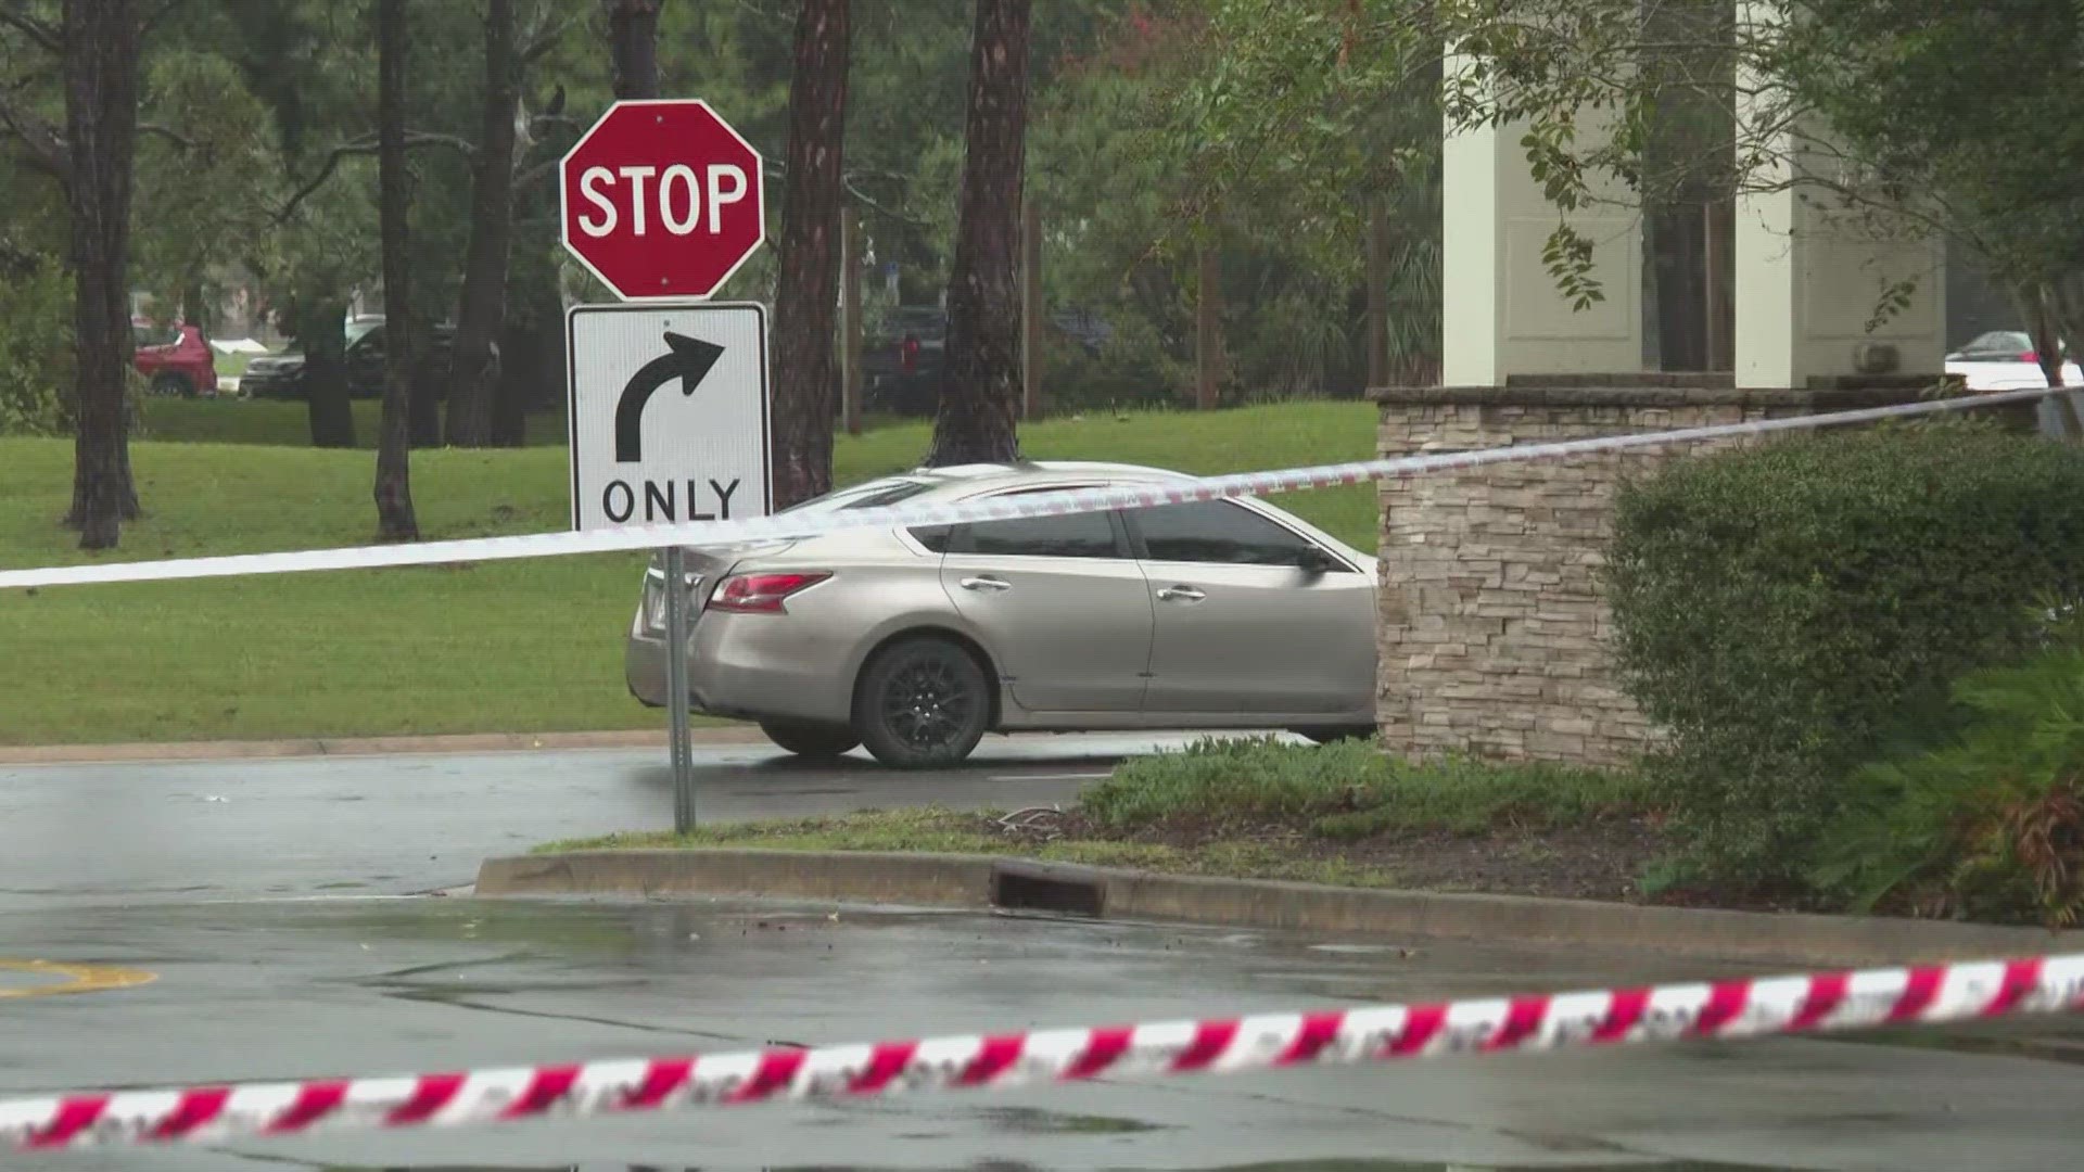
[[[698,744],[696,815],[1044,805],[1123,753],[1182,740],[994,736],[963,770],[925,776]],[[0,765],[0,907],[406,895],[469,884],[488,855],[671,828],[663,751]]]

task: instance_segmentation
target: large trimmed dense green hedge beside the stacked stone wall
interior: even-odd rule
[[[1678,461],[1621,490],[1607,582],[1690,861],[1796,890],[1851,772],[2080,596],[2084,453],[1946,421]]]

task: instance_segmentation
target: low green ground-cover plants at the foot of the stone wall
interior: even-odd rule
[[[1302,747],[1275,738],[1202,740],[1134,757],[1080,797],[1080,809],[1115,834],[1173,820],[1284,822],[1336,840],[1567,826],[1648,805],[1648,786],[1632,772],[1465,759],[1415,765],[1369,740]]]

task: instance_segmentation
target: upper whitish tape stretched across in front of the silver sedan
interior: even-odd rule
[[[738,521],[688,521],[675,526],[625,526],[619,530],[590,530],[577,534],[521,534],[511,538],[471,538],[452,542],[313,548],[296,553],[252,553],[235,557],[188,557],[163,561],[117,561],[102,565],[48,565],[40,569],[0,569],[0,590],[31,586],[85,586],[92,582],[167,582],[177,578],[240,578],[252,573],[304,573],[319,569],[375,569],[394,565],[450,565],[465,561],[506,561],[523,557],[561,557],[575,553],[613,553],[684,546],[744,544],[763,540],[813,538],[842,530],[875,530],[894,526],[950,526],[961,521],[1004,521],[1013,517],[1052,517],[1063,513],[1096,513],[1102,509],[1144,509],[1152,505],[1180,505],[1186,500],[1211,500],[1217,496],[1271,496],[1275,492],[1298,492],[1307,488],[1334,488],[1342,484],[1367,484],[1398,475],[1444,471],[1457,467],[1478,467],[1490,463],[1517,463],[1536,459],[1561,459],[1578,455],[1615,453],[1628,448],[1653,448],[1661,444],[1692,444],[1701,440],[1728,440],[1738,436],[1761,436],[1767,432],[1792,432],[1803,428],[1834,428],[1846,423],[1874,423],[1880,419],[1903,419],[1913,415],[1938,415],[1946,411],[1974,411],[2003,407],[2007,402],[2028,402],[2055,394],[2049,388],[2011,390],[2003,394],[1971,394],[1959,398],[1936,398],[1928,402],[1899,402],[1892,407],[1867,407],[1861,411],[1834,411],[1826,415],[1796,415],[1788,419],[1753,419],[1748,423],[1717,423],[1713,428],[1684,428],[1676,432],[1644,432],[1634,436],[1596,436],[1590,440],[1567,440],[1557,444],[1519,444],[1509,448],[1480,448],[1467,453],[1436,453],[1421,457],[1394,457],[1380,461],[1290,467],[1275,471],[1242,471],[1234,475],[1211,475],[1115,484],[1109,488],[1088,488],[1075,492],[1029,492],[998,496],[990,500],[959,500],[952,505],[890,505],[882,509],[846,509],[829,513],[777,513],[773,517],[746,517]]]

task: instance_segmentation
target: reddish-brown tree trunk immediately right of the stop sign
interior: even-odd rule
[[[784,509],[832,490],[848,17],[848,0],[802,0],[796,15],[775,288],[773,467],[775,505]]]

